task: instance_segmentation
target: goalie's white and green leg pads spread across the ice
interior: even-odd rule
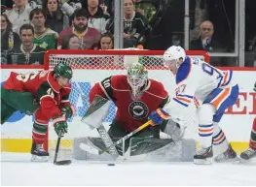
[[[92,143],[93,141],[93,143]],[[116,140],[113,140],[116,141]],[[113,157],[104,153],[93,154],[80,148],[81,143],[86,143],[89,147],[99,150],[105,145],[100,138],[76,138],[74,140],[73,152],[76,160],[89,161],[113,161]],[[97,147],[102,146],[102,147]],[[126,162],[192,162],[196,153],[196,140],[180,140],[173,142],[171,139],[143,139],[131,138],[130,146],[125,157],[119,157],[117,161]]]

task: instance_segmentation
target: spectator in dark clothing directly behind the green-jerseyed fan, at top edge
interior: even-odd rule
[[[46,0],[43,10],[46,15],[46,27],[59,34],[63,29],[70,26],[69,17],[60,10],[58,0]]]

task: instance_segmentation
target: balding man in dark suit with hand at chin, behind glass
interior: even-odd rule
[[[200,38],[191,41],[190,49],[223,52],[221,45],[212,38],[213,33],[213,23],[209,20],[202,21],[200,26]],[[213,66],[219,66],[222,63],[222,59],[219,57],[211,57],[210,63]]]

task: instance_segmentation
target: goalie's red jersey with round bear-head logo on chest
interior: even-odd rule
[[[90,102],[95,95],[112,100],[117,107],[115,119],[131,132],[147,122],[148,115],[155,109],[163,108],[168,102],[164,85],[149,79],[140,99],[132,99],[127,76],[113,76],[96,83],[90,92]]]

